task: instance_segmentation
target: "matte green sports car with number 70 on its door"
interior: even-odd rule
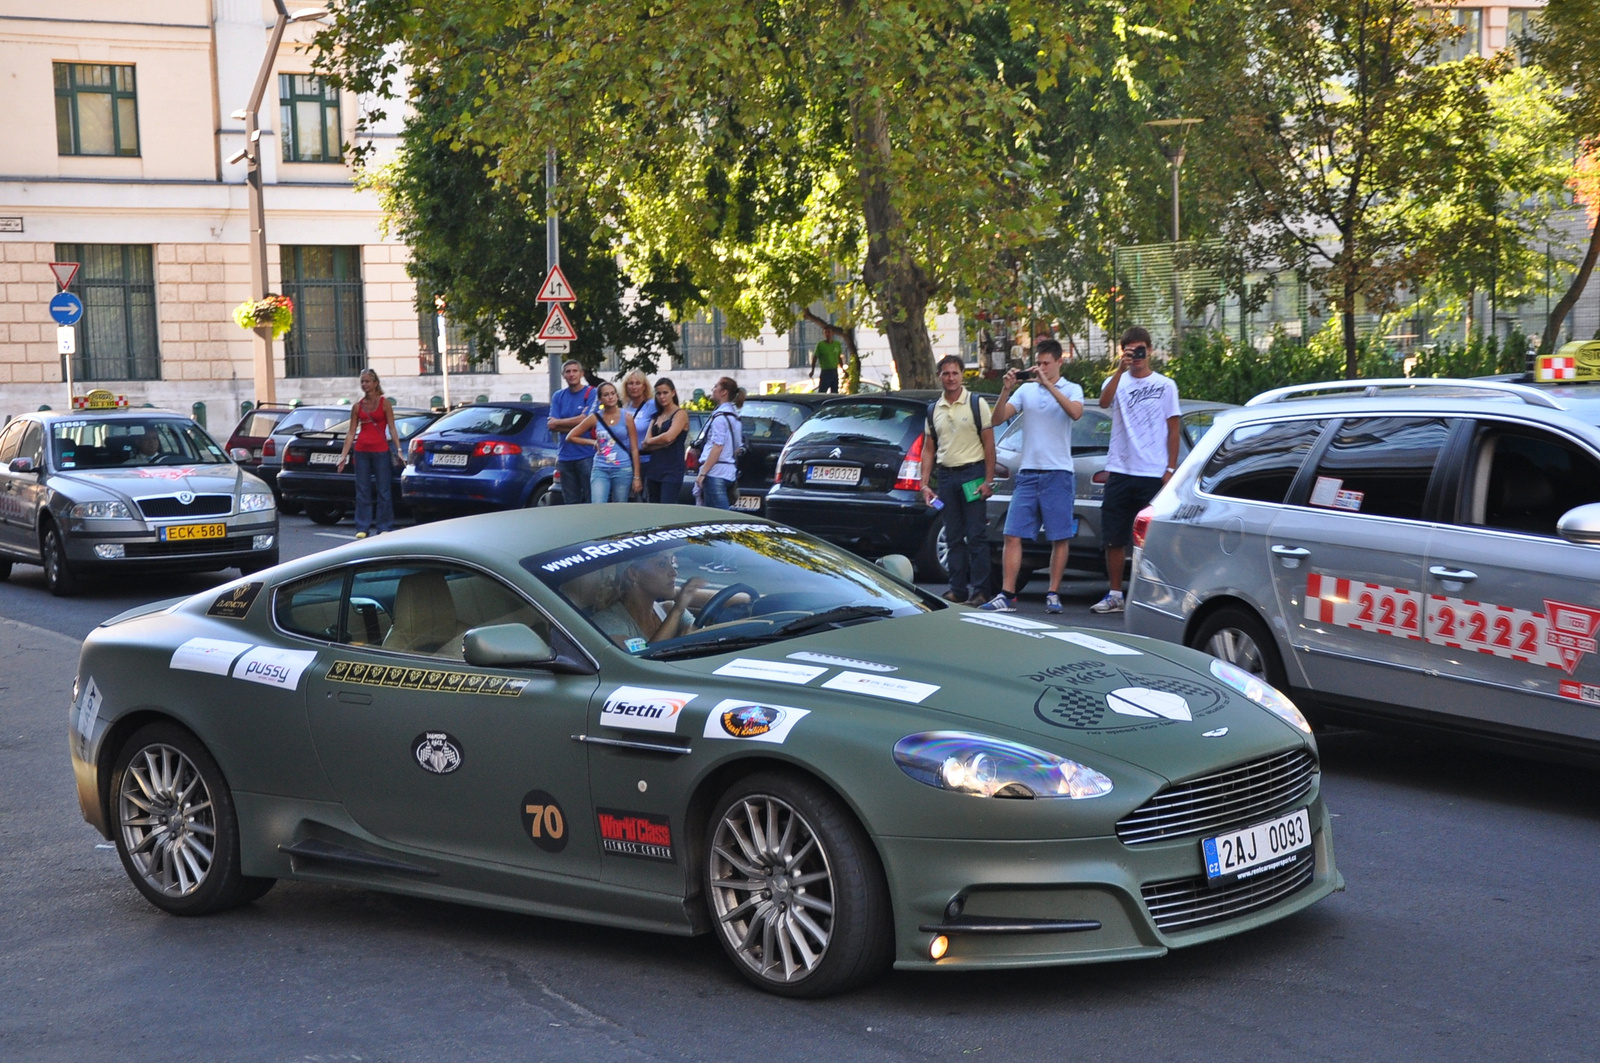
[[[339,882],[710,932],[789,996],[1154,957],[1342,889],[1278,692],[898,567],[677,506],[352,543],[96,629],[78,799],[173,914]]]

